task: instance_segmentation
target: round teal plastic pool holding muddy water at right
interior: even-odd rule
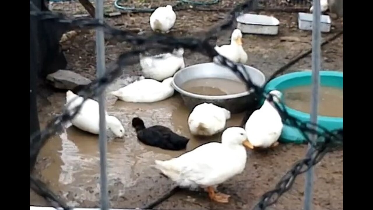
[[[292,72],[284,74],[269,81],[265,91],[285,90],[290,87],[304,86],[311,84],[311,71]],[[338,71],[320,71],[320,86],[338,87],[343,89],[343,72]],[[288,106],[285,106],[288,113],[299,120],[310,121],[310,114],[301,112]],[[327,130],[334,130],[343,127],[343,117],[327,117],[318,115],[317,123]],[[305,143],[305,139],[300,130],[284,125],[279,142],[284,143]]]

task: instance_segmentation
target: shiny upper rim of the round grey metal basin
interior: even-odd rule
[[[173,78],[172,78],[172,87],[179,93],[181,93],[182,95],[186,95],[186,96],[189,96],[189,97],[192,97],[192,98],[198,98],[198,99],[206,99],[206,100],[224,100],[224,99],[233,99],[233,98],[239,98],[239,97],[242,97],[242,96],[247,96],[247,95],[250,95],[250,93],[254,92],[254,91],[248,91],[246,90],[245,92],[241,92],[241,93],[235,93],[235,94],[229,94],[229,95],[220,95],[220,96],[210,96],[210,95],[200,95],[200,94],[196,94],[196,93],[191,93],[191,92],[188,92],[184,89],[182,89],[181,87],[177,86],[175,84],[175,77],[180,74],[182,71],[187,71],[189,68],[192,68],[192,67],[195,67],[195,66],[198,66],[198,65],[204,65],[204,64],[215,64],[214,62],[207,62],[207,63],[201,63],[201,64],[194,64],[194,65],[190,65],[188,67],[185,67],[179,71],[177,71],[174,75],[173,75]],[[215,64],[215,65],[218,65],[218,64]],[[263,72],[261,72],[260,70],[258,70],[257,68],[254,68],[252,66],[249,66],[249,65],[245,65],[244,64],[244,67],[247,68],[247,67],[250,67],[252,68],[254,71],[258,72],[259,74],[261,74],[264,78],[264,82],[263,84],[261,84],[260,86],[263,86],[264,83],[266,82],[266,76],[263,74]],[[227,67],[223,67],[223,68],[227,68]],[[239,79],[243,84],[244,81],[242,81],[241,79]]]

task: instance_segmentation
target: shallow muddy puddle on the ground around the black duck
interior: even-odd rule
[[[149,177],[154,177],[154,180],[159,179],[159,173],[150,169],[154,159],[167,160],[185,152],[185,150],[167,151],[139,142],[131,126],[133,117],[142,118],[147,127],[160,124],[191,138],[186,151],[209,141],[220,141],[221,133],[209,138],[196,138],[190,135],[187,124],[190,111],[182,104],[179,95],[152,104],[135,104],[118,100],[112,107],[108,107],[108,112],[118,117],[126,130],[122,139],[112,139],[107,145],[109,186],[118,182],[124,185],[118,189],[118,192],[113,192],[118,196],[124,195],[127,189],[140,182],[139,177],[145,177],[144,180],[149,180]],[[242,116],[243,114],[232,115],[227,126],[239,126]],[[43,167],[40,173],[49,181],[51,189],[65,194],[74,192],[75,201],[98,200],[100,160],[97,135],[70,126],[51,138],[43,147],[39,157],[42,157],[42,161],[43,157],[48,159],[48,165]],[[151,182],[153,183],[154,180]]]

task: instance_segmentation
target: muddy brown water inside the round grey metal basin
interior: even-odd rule
[[[223,78],[200,78],[189,80],[182,89],[200,95],[228,95],[246,91],[244,83]]]

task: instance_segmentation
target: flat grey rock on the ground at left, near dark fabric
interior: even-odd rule
[[[91,80],[69,70],[58,70],[47,75],[47,80],[58,89],[71,90],[79,85],[87,85]]]

